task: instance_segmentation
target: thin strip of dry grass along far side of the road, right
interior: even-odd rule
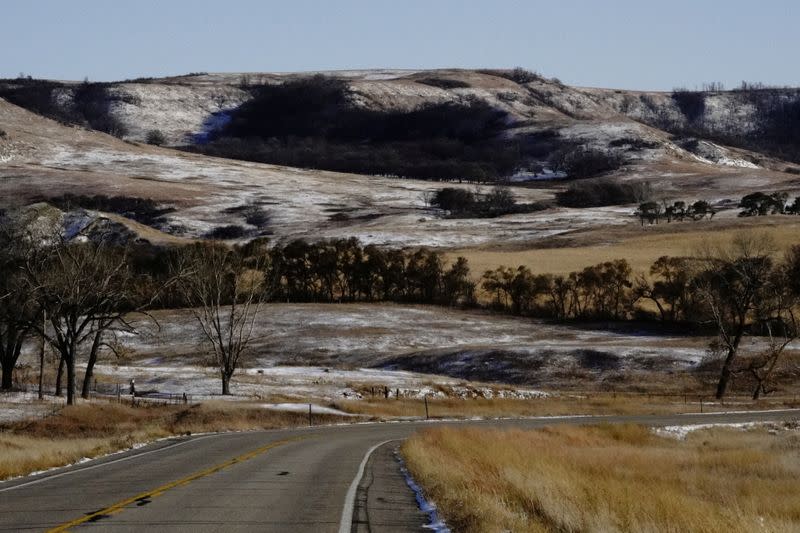
[[[705,412],[728,410],[769,409],[795,406],[793,398],[769,398],[758,402],[746,398],[730,400],[725,405],[709,404],[704,400]],[[399,400],[368,399],[340,400],[333,403],[337,409],[348,413],[370,415],[376,418],[424,417],[425,404],[420,399]],[[643,415],[678,414],[700,411],[699,397],[647,395],[630,393],[593,392],[587,396],[558,394],[529,400],[518,399],[428,399],[431,418],[504,418],[514,416],[560,415]]]

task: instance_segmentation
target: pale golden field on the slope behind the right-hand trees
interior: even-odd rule
[[[800,223],[794,217],[764,217],[763,225],[745,229],[769,234],[779,249],[800,244]],[[775,223],[775,220],[780,222]],[[454,262],[458,256],[469,260],[470,270],[474,277],[480,277],[484,271],[495,269],[501,265],[517,267],[525,265],[536,274],[568,274],[584,267],[614,259],[626,259],[633,271],[647,273],[656,259],[662,255],[685,256],[691,254],[698,246],[713,239],[724,241],[732,238],[743,228],[716,228],[713,231],[704,224],[662,224],[661,228],[645,228],[645,230],[625,230],[619,237],[613,237],[607,245],[582,245],[564,248],[540,248],[530,250],[493,250],[463,249],[447,253]],[[638,228],[638,226],[636,226]],[[680,229],[681,231],[675,231]],[[614,230],[609,230],[613,235]],[[596,235],[590,242],[604,242],[602,236]]]

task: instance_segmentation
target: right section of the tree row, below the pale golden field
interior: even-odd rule
[[[500,267],[484,273],[482,286],[496,306],[514,314],[620,320],[650,314],[643,305],[649,302],[662,321],[713,328],[717,336],[709,348],[722,358],[716,396],[725,395],[733,376],[747,374],[757,399],[770,391],[781,355],[800,333],[800,246],[780,261],[774,257],[768,238],[740,235],[692,257],[661,257],[649,278],[634,277],[630,265],[617,260],[566,276]],[[740,361],[748,333],[761,335],[764,348]]]

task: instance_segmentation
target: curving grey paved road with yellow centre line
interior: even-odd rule
[[[447,422],[533,428],[788,420],[800,411]],[[432,422],[200,435],[0,483],[0,531],[415,531],[392,449]],[[374,453],[368,453],[374,451]]]

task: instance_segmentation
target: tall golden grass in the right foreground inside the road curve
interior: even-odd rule
[[[800,529],[796,429],[442,428],[402,451],[456,531]]]

